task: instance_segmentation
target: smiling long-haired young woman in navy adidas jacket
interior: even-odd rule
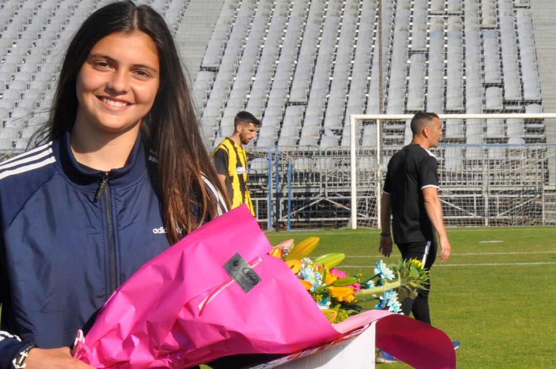
[[[225,211],[159,14],[116,2],[86,19],[34,143],[0,165],[0,369],[89,368],[69,355],[76,331]]]

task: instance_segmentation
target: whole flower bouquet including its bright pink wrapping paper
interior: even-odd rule
[[[306,259],[316,244],[310,239],[273,249],[249,209],[233,209],[124,282],[90,331],[78,334],[73,357],[98,369],[185,369],[230,355],[295,353],[377,322],[376,346],[400,360],[429,369],[455,367],[444,332],[391,311],[355,314],[356,303],[365,299],[395,309],[385,294],[411,295],[414,287],[403,270],[409,267],[415,277],[415,267],[391,267],[391,280],[381,267],[383,276],[358,282],[335,271],[342,255]],[[330,323],[346,315],[353,316]]]

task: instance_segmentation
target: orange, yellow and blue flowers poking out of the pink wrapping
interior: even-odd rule
[[[428,270],[418,260],[389,265],[377,260],[375,275],[362,281],[361,275],[347,276],[345,271],[336,269],[344,261],[345,254],[336,252],[310,259],[309,255],[318,244],[318,237],[310,237],[297,245],[294,240],[287,240],[274,247],[270,255],[286,262],[331,323],[358,314],[364,310],[360,304],[368,301],[377,301],[374,309],[400,313],[400,301],[405,297],[414,299],[417,290],[425,289],[424,284],[429,279]]]

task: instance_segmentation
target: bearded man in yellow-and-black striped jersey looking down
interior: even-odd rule
[[[242,145],[255,138],[260,125],[261,122],[253,114],[237,113],[234,119],[234,134],[226,137],[214,151],[216,172],[228,190],[231,209],[246,204],[253,216],[255,210],[247,189],[247,153]]]

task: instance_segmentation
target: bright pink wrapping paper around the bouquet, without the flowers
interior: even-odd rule
[[[76,343],[74,357],[96,368],[188,368],[240,353],[297,352],[383,318],[384,329],[377,326],[379,347],[383,342],[404,360],[402,351],[418,343],[413,333],[399,335],[401,341],[388,334],[416,322],[389,312],[370,311],[331,325],[289,267],[268,255],[270,250],[246,206],[203,225],[114,292],[85,339]],[[247,293],[223,267],[236,252],[261,278]],[[448,340],[454,356],[443,332],[420,324],[425,327],[418,330],[430,332],[424,340]],[[436,343],[420,345],[428,349]],[[455,356],[453,363],[426,367],[455,367]]]

